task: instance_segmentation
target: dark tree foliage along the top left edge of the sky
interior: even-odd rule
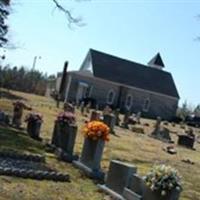
[[[8,39],[6,34],[8,32],[8,25],[6,24],[6,19],[9,15],[10,0],[0,0],[0,47],[3,47]]]

